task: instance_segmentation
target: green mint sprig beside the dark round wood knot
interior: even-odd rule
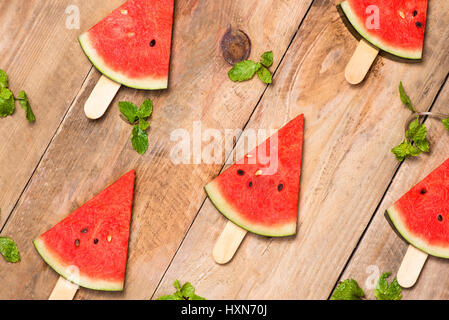
[[[238,62],[228,72],[229,79],[234,82],[251,80],[257,73],[259,79],[266,84],[273,82],[273,76],[268,70],[273,65],[273,52],[267,51],[261,56],[261,61],[256,63],[252,60]]]

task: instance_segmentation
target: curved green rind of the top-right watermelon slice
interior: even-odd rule
[[[405,50],[397,47],[393,47],[386,43],[383,43],[381,39],[370,35],[364,26],[364,23],[360,21],[357,15],[353,12],[351,6],[347,1],[341,3],[340,8],[348,19],[349,23],[354,27],[354,29],[360,34],[362,38],[371,43],[373,46],[388,52],[392,55],[410,59],[410,60],[421,60],[422,59],[422,50]]]

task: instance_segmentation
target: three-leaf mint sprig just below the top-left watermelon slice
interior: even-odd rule
[[[153,113],[153,102],[150,99],[145,100],[140,108],[134,103],[128,101],[119,102],[119,110],[124,118],[132,124],[133,131],[131,135],[131,143],[134,150],[139,154],[145,154],[148,150],[148,134],[146,130],[150,127],[148,118]]]

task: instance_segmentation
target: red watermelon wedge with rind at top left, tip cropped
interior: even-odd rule
[[[79,37],[92,64],[137,89],[168,86],[174,0],[129,0]]]

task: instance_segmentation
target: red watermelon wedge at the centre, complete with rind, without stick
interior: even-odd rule
[[[303,131],[300,115],[209,183],[217,209],[256,234],[296,234]]]

